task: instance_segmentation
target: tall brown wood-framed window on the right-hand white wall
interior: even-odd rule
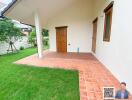
[[[103,41],[110,41],[111,25],[112,25],[112,10],[114,2],[111,2],[105,9],[105,21],[104,21],[104,37]]]

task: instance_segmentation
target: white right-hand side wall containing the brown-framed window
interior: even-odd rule
[[[98,17],[97,48],[95,56],[132,92],[132,13],[130,0],[115,0],[110,42],[103,42],[104,8],[110,3],[94,0],[93,17]]]

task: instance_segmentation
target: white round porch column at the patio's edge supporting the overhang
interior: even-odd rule
[[[40,18],[38,12],[35,12],[34,18],[35,18],[35,27],[36,27],[38,57],[42,58],[43,57],[42,30],[41,30]]]

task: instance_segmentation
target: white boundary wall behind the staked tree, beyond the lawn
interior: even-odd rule
[[[31,44],[28,43],[28,38],[23,36],[22,39],[15,42],[15,47],[19,50],[20,47],[28,48],[31,47]],[[0,55],[6,54],[9,44],[6,42],[0,42]]]

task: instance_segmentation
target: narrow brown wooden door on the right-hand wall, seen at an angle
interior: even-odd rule
[[[92,51],[94,53],[96,52],[97,22],[98,22],[98,18],[96,18],[93,21]]]

